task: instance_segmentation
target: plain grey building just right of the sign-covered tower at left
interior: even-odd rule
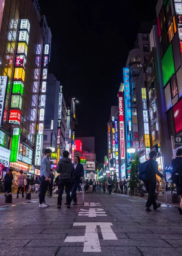
[[[57,81],[54,74],[48,74],[46,92],[46,113],[43,136],[43,151],[52,147],[57,151],[57,136],[60,136],[60,154],[65,150],[66,137],[66,105],[63,93],[60,94],[60,81]],[[61,106],[60,106],[61,105]],[[58,112],[61,112],[60,124],[58,122]],[[57,134],[60,125],[60,135]]]

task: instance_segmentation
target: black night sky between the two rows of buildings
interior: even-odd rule
[[[95,137],[98,162],[107,154],[107,122],[122,68],[140,22],[156,19],[156,2],[39,0],[52,33],[49,73],[63,84],[64,96],[79,100],[75,135]]]

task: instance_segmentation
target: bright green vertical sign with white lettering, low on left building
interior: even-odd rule
[[[18,161],[18,150],[20,145],[21,128],[13,128],[10,162]]]

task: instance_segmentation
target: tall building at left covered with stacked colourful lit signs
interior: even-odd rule
[[[39,92],[44,95],[51,32],[36,0],[4,0],[0,10],[0,161],[5,166],[0,177],[13,166],[13,189],[17,189],[20,169],[26,175],[40,175],[34,166],[37,155],[42,157],[41,140],[35,150],[36,133],[40,129],[43,134],[43,125],[37,124],[43,124],[45,113]]]

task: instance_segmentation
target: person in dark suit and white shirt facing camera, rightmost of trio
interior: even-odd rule
[[[83,179],[84,169],[83,165],[80,163],[80,157],[74,157],[74,163],[72,164],[72,173],[71,173],[71,201],[73,200],[73,205],[77,205],[77,188],[80,183],[80,179]]]

